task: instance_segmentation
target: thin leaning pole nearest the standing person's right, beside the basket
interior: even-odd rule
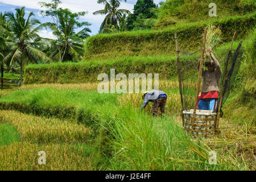
[[[226,81],[226,72],[228,71],[229,57],[230,57],[230,54],[231,54],[231,51],[232,51],[232,45],[233,45],[233,42],[234,42],[235,35],[236,35],[236,31],[234,32],[234,35],[233,35],[233,38],[232,38],[232,42],[231,42],[231,45],[230,45],[230,48],[229,48],[228,57],[227,57],[226,63],[225,63],[225,71],[224,71],[224,77],[223,77],[223,81],[222,81],[221,97],[220,97],[220,102],[218,104],[218,112],[217,112],[217,119],[216,119],[216,131],[218,130],[218,123],[220,121],[221,102],[222,102],[222,98],[223,98],[223,94],[224,94],[224,90],[223,89],[224,89],[224,84],[225,84],[225,81]]]

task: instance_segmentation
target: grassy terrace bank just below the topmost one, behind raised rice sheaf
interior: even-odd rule
[[[222,41],[232,40],[234,31],[237,39],[243,38],[255,24],[255,13],[245,16],[232,16],[209,22],[183,23],[160,30],[140,30],[116,34],[98,34],[85,42],[86,60],[108,60],[125,56],[175,55],[174,33],[177,32],[180,50],[197,51],[201,48],[205,26],[220,26],[224,35]]]

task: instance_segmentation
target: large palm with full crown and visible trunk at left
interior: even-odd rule
[[[14,13],[7,13],[6,17],[9,20],[9,30],[6,27],[0,26],[3,34],[7,36],[9,53],[3,61],[10,61],[10,65],[18,63],[20,65],[20,86],[23,83],[23,65],[30,62],[42,63],[52,61],[46,53],[40,51],[36,46],[46,44],[40,41],[38,35],[39,30],[45,26],[38,19],[32,19],[33,13],[25,19],[25,7],[15,9]],[[35,27],[36,25],[38,25]]]

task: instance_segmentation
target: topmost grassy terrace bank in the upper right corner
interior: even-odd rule
[[[213,19],[208,15],[210,3],[217,6],[217,19],[253,13],[256,8],[251,0],[169,0],[160,7],[155,28]]]

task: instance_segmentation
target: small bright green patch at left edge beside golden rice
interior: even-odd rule
[[[20,135],[13,125],[0,123],[0,146],[20,142],[20,140]]]

